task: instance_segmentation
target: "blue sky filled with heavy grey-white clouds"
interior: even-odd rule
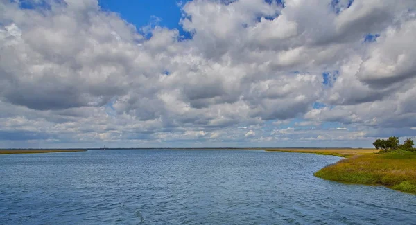
[[[416,136],[414,0],[0,0],[0,148]]]

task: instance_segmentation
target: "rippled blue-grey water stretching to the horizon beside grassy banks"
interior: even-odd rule
[[[0,156],[0,224],[416,224],[416,195],[313,177],[336,156],[107,150]]]

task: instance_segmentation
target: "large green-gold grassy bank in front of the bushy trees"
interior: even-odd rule
[[[315,176],[331,181],[383,185],[416,194],[416,152],[351,156],[322,168]]]

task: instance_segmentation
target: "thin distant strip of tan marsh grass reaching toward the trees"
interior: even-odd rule
[[[300,153],[313,153],[313,154],[323,154],[330,156],[340,156],[340,157],[349,157],[356,154],[368,154],[379,152],[375,149],[362,149],[362,148],[304,148],[304,149],[286,149],[286,148],[276,148],[276,149],[267,149],[268,152],[300,152]]]

